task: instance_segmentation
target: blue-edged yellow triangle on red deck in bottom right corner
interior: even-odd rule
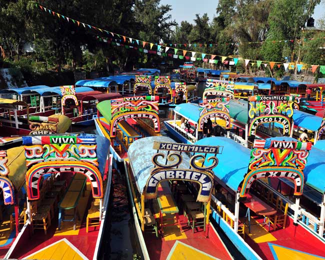
[[[270,244],[269,245],[274,258],[277,257],[277,260],[288,260],[288,259],[294,259],[294,260],[319,260],[319,259],[324,259],[322,256],[314,255],[314,254],[309,254],[306,252],[298,251],[298,250],[293,250],[288,247],[284,246],[279,246],[276,244]]]

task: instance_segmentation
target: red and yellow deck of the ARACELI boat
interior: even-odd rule
[[[89,227],[86,232],[85,215],[90,192],[91,186],[87,182],[85,194],[80,197],[77,206],[80,220],[76,222],[76,230],[73,230],[73,222],[62,222],[61,230],[58,230],[56,213],[46,235],[43,230],[34,230],[30,237],[27,235],[19,241],[10,258],[92,259],[99,226]]]

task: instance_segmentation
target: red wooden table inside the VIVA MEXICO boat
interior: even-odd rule
[[[248,231],[250,232],[250,210],[257,215],[270,216],[276,213],[276,209],[259,199],[255,195],[248,194],[243,204],[247,207],[245,219],[248,216]],[[268,223],[269,227],[269,223]]]

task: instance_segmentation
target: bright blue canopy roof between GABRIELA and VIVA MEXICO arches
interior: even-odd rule
[[[194,144],[223,146],[222,153],[216,155],[219,163],[213,169],[213,172],[229,188],[236,191],[247,173],[250,150],[227,137],[207,137],[198,140]],[[204,165],[211,164],[207,161],[211,156],[214,156],[214,154],[207,154]]]

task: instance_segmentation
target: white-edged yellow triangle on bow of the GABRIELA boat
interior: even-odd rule
[[[181,259],[197,259],[197,260],[211,260],[218,259],[210,254],[202,252],[192,246],[176,241],[171,248],[166,260],[181,260]]]

